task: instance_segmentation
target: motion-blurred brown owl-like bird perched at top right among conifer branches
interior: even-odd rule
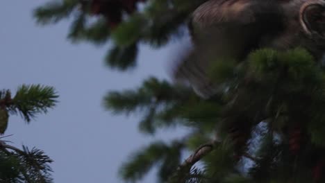
[[[253,50],[301,46],[317,60],[325,49],[325,0],[209,0],[189,24],[194,48],[174,72],[203,98],[218,89],[208,76],[211,58],[244,60]]]

